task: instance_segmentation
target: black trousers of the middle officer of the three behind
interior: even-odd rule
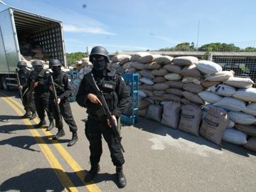
[[[39,95],[35,95],[35,105],[36,105],[36,112],[40,120],[45,119],[46,114],[48,115],[49,121],[53,121],[53,112],[49,107],[49,95],[43,95],[40,97]]]

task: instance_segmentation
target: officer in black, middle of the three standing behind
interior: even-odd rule
[[[36,127],[46,125],[45,111],[50,121],[48,127],[55,127],[53,122],[53,112],[49,109],[49,91],[47,82],[50,72],[43,69],[43,63],[40,60],[33,60],[32,66],[34,70],[31,71],[29,83],[33,83],[34,85],[36,112],[40,118],[40,122]]]

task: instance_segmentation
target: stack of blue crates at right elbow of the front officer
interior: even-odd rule
[[[121,122],[133,125],[139,122],[139,74],[122,74],[127,87],[130,90],[131,105],[128,114],[122,114]]]

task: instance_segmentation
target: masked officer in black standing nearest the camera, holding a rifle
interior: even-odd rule
[[[129,102],[129,91],[125,85],[124,79],[114,73],[114,70],[107,68],[110,58],[107,50],[101,46],[92,48],[90,53],[90,62],[93,64],[92,75],[95,78],[97,86],[104,93],[105,100],[114,122],[119,122],[119,117],[124,112]],[[105,86],[111,85],[111,86]],[[102,155],[102,135],[110,149],[110,156],[117,171],[117,183],[119,188],[126,185],[126,178],[122,171],[124,156],[120,143],[114,139],[112,128],[107,121],[102,105],[98,99],[95,90],[82,79],[76,100],[81,107],[87,107],[88,119],[85,123],[85,135],[90,142],[90,164],[91,169],[85,176],[85,182],[89,182],[100,171],[100,156]]]

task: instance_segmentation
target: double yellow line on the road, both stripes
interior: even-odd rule
[[[21,110],[18,109],[18,107],[20,109],[23,109],[23,106],[19,102],[17,102],[13,98],[8,97],[2,93],[0,93],[0,95],[3,96],[3,97],[1,97],[1,99],[4,100],[4,102],[6,102],[10,107],[12,107],[18,115],[23,114],[21,112]],[[18,107],[16,107],[14,104]],[[36,124],[38,124],[38,122],[39,122],[39,120],[37,118],[34,119],[33,121],[36,122]],[[60,182],[63,184],[66,191],[74,191],[74,192],[78,191],[78,189],[75,188],[73,182],[70,181],[68,174],[66,174],[65,170],[60,165],[58,159],[55,157],[53,152],[50,150],[49,146],[41,138],[41,135],[39,134],[39,132],[36,129],[34,129],[33,125],[31,124],[31,122],[28,119],[23,119],[23,122],[25,122],[28,125],[28,127],[30,128],[29,130],[30,130],[31,134],[33,135],[33,137],[36,138],[41,150],[43,151],[43,154],[46,156],[46,159],[48,160],[50,166],[53,167],[55,174],[58,176]],[[43,129],[43,133],[47,137],[51,136],[50,132],[46,132],[45,129]],[[99,192],[100,188],[98,188],[95,183],[92,183],[92,182],[85,183],[83,181],[83,178],[85,178],[85,171],[80,167],[80,165],[75,161],[75,159],[73,159],[73,157],[70,156],[70,154],[68,154],[68,151],[66,151],[65,148],[60,143],[58,143],[58,141],[51,140],[51,142],[53,143],[53,146],[55,146],[55,149],[57,149],[57,151],[60,153],[60,155],[63,157],[63,159],[65,159],[65,161],[71,167],[71,169],[73,169],[73,171],[75,171],[75,174],[78,175],[78,177],[80,178],[82,183],[84,183],[87,190],[91,191],[91,192]]]

